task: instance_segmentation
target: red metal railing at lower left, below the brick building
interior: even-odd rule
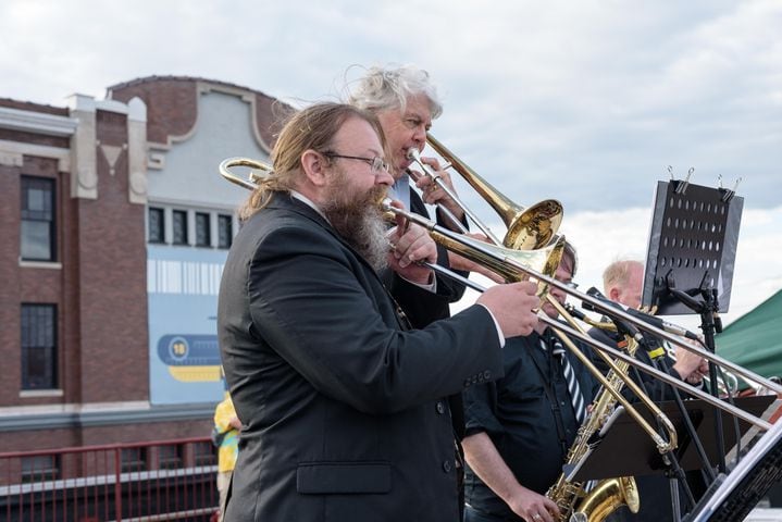
[[[0,520],[209,521],[218,507],[208,437],[0,453]]]

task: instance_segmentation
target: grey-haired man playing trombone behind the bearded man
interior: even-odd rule
[[[361,78],[349,85],[348,89],[349,103],[375,114],[383,127],[392,166],[390,174],[395,182],[390,196],[401,201],[405,208],[427,219],[430,215],[424,203],[437,204],[436,219],[439,225],[458,232],[459,227],[452,221],[456,219],[467,227],[463,209],[445,189],[433,183],[431,177],[415,171],[422,166],[414,165],[411,158],[411,151],[423,151],[432,121],[443,113],[443,103],[429,73],[413,65],[370,67]],[[421,162],[439,176],[452,194],[456,194],[448,173],[440,169],[436,158],[421,157]],[[415,186],[421,190],[421,195],[413,190],[411,176],[418,179]],[[468,270],[477,269],[483,272],[474,263],[448,252],[440,246],[437,247],[437,264],[463,277],[469,275]],[[411,285],[390,272],[386,272],[384,281],[415,327],[424,327],[432,321],[449,316],[450,303],[458,301],[464,295],[463,284],[442,275],[437,275],[429,288]],[[463,456],[460,443],[464,436],[461,394],[448,397],[448,410],[456,439],[455,468],[460,478],[459,507],[461,508]]]

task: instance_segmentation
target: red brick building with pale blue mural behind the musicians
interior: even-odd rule
[[[0,99],[0,448],[208,435],[216,291],[243,188],[290,108],[147,77],[66,107]]]

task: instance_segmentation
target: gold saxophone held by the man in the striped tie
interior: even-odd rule
[[[621,344],[624,344],[624,341]],[[637,341],[629,338],[626,352],[630,356],[635,356],[637,348]],[[628,378],[629,363],[618,361],[615,364],[618,371],[611,369],[606,375],[606,380],[608,381],[608,386],[618,393],[622,389]],[[595,400],[595,407],[586,421],[579,427],[575,440],[568,450],[566,469],[576,465],[591,451],[599,437],[600,430],[611,417],[616,402],[617,400],[606,389],[606,386],[600,388]],[[584,483],[571,481],[566,473],[562,473],[548,489],[546,496],[559,507],[560,517],[557,519],[558,522],[599,522],[622,505],[626,505],[633,513],[637,513],[641,508],[638,489],[632,476],[600,481],[588,494],[584,490]],[[580,500],[581,504],[576,508],[575,505]]]

